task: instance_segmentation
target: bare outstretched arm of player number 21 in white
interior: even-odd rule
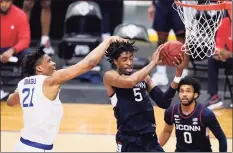
[[[112,42],[116,42],[116,41],[122,42],[127,40],[118,36],[112,36],[106,39],[77,64],[72,65],[66,69],[61,69],[54,72],[54,74],[51,77],[48,77],[49,84],[60,85],[66,81],[69,81],[91,70],[99,63],[101,58],[104,56],[107,48],[109,47],[109,45]]]

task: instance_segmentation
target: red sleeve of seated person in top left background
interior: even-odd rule
[[[30,44],[30,27],[28,23],[28,19],[25,13],[22,13],[20,19],[18,19],[18,42],[13,47],[16,53],[23,51],[24,49],[29,47]]]

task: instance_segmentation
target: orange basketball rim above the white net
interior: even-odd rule
[[[192,7],[199,11],[210,11],[210,10],[232,10],[232,4],[227,2],[222,2],[220,4],[210,4],[210,5],[193,5],[193,4],[183,4],[178,0],[175,0],[175,4],[184,6],[184,7]]]

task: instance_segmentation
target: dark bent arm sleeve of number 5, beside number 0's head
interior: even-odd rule
[[[158,105],[158,107],[167,109],[171,105],[175,93],[176,89],[173,89],[171,86],[166,92],[163,92],[160,88],[155,86],[149,94],[151,99]]]

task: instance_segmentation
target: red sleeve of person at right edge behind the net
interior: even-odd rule
[[[216,33],[216,47],[217,48],[225,48],[225,45],[226,45],[225,38],[227,37],[226,32],[228,31],[225,30],[225,22],[222,22]]]

